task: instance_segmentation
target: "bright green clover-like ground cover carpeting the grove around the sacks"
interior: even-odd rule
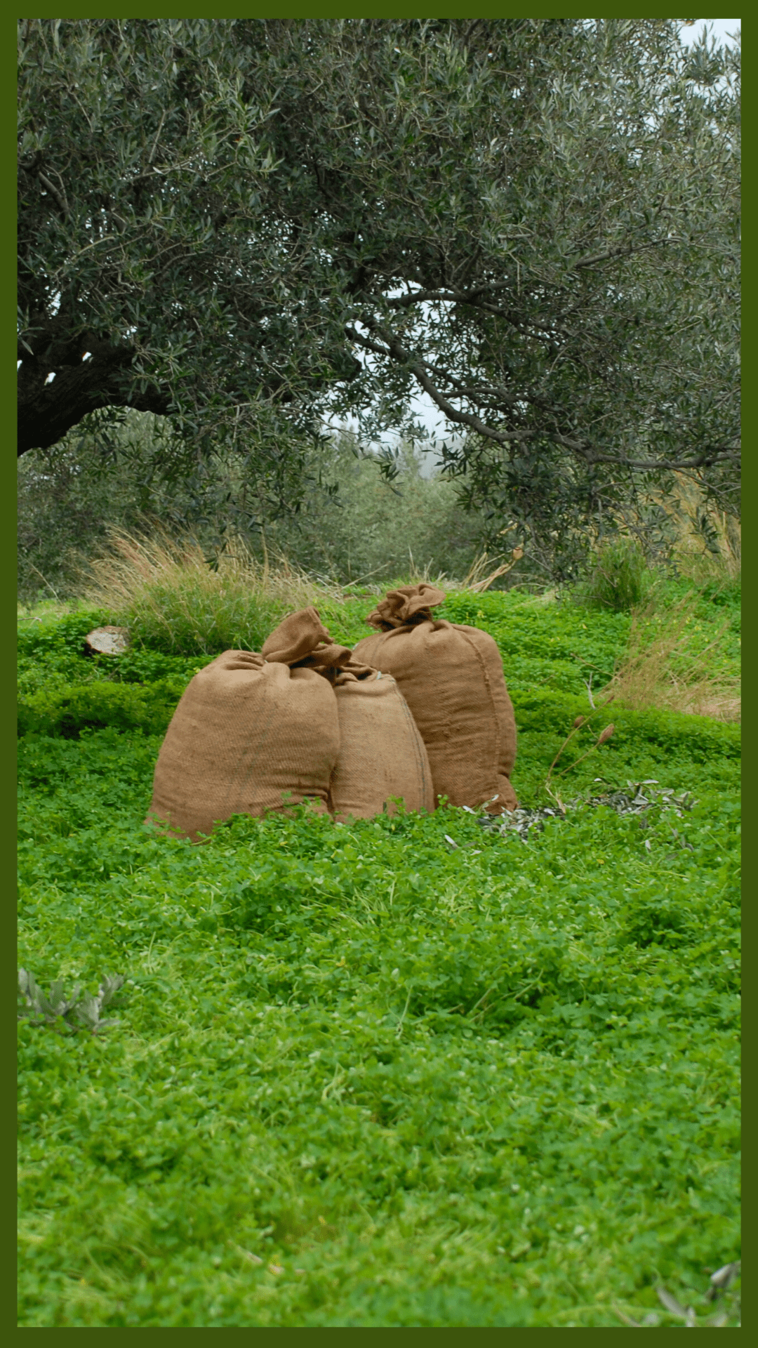
[[[629,620],[446,613],[499,640],[548,803]],[[19,1024],[20,1322],[673,1326],[660,1282],[705,1316],[739,1258],[736,729],[614,708],[562,794],[693,793],[643,826],[299,811],[197,848],[142,820],[200,661],[85,659],[92,617],[22,624],[19,962],[125,998],[101,1035]]]

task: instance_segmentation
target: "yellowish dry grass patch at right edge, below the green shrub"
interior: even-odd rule
[[[719,669],[715,658],[728,619],[697,654],[687,650],[687,628],[699,599],[697,590],[689,590],[670,609],[650,599],[633,612],[627,652],[606,694],[635,712],[660,708],[739,721],[739,677]]]

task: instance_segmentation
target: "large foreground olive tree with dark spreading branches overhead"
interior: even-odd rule
[[[162,470],[224,443],[285,508],[325,419],[413,435],[424,388],[468,503],[558,573],[673,470],[734,506],[738,51],[658,19],[19,34],[20,453],[161,412]]]

